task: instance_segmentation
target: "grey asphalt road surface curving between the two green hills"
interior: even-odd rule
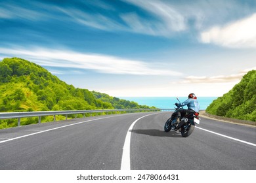
[[[131,169],[256,169],[255,127],[202,118],[184,138],[163,131],[169,116],[118,114],[1,129],[0,169],[121,169],[127,133]]]

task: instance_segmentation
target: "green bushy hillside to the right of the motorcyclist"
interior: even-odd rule
[[[256,122],[256,71],[249,71],[232,90],[207,107],[218,116]]]

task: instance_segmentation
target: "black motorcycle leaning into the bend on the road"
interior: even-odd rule
[[[179,101],[179,98],[177,97],[177,100]],[[179,101],[181,103],[181,101]],[[200,124],[200,118],[198,112],[189,112],[185,116],[182,117],[181,121],[179,123],[176,122],[175,114],[177,110],[182,109],[182,107],[175,108],[175,112],[171,115],[171,118],[165,122],[164,130],[165,132],[168,132],[170,130],[173,131],[180,131],[182,137],[188,137],[192,134],[195,128],[195,124]]]

